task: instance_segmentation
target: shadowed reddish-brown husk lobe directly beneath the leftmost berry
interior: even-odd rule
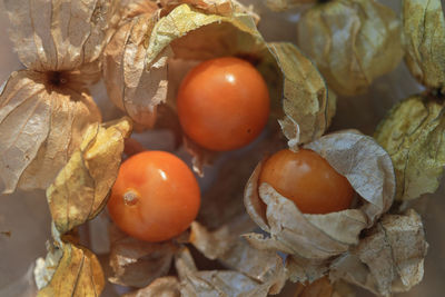
[[[174,254],[178,249],[172,240],[142,241],[129,237],[115,225],[110,226],[110,244],[109,264],[112,274],[108,280],[137,288],[146,287],[155,279],[166,276],[170,269]]]

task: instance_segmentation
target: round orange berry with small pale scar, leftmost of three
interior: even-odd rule
[[[126,202],[129,191],[139,197]],[[165,151],[144,151],[121,165],[108,211],[122,231],[157,242],[185,231],[199,205],[198,182],[182,160]]]

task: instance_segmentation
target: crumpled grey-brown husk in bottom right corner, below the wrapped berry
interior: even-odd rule
[[[357,247],[332,265],[329,277],[378,296],[407,291],[423,278],[427,247],[422,219],[414,210],[385,215]]]

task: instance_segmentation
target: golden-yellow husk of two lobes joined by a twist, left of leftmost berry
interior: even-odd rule
[[[79,245],[77,228],[105,207],[118,176],[131,120],[93,123],[47,189],[52,239],[46,259],[36,263],[38,296],[99,296],[105,277],[98,258]]]

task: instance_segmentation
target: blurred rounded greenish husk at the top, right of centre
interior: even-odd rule
[[[342,96],[365,91],[403,57],[399,20],[375,0],[314,6],[298,21],[298,46]]]

